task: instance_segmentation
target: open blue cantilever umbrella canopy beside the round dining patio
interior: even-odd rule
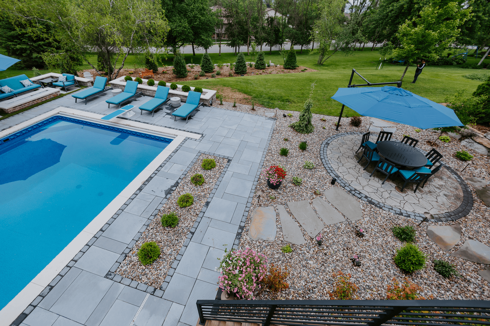
[[[463,125],[452,109],[394,86],[339,88],[332,99],[360,115],[421,129]]]

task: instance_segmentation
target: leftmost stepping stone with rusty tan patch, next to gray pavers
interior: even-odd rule
[[[248,235],[253,240],[273,241],[277,232],[274,207],[257,207],[253,210],[252,222]]]

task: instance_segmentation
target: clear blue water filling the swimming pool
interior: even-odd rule
[[[171,141],[60,116],[0,139],[0,309]]]

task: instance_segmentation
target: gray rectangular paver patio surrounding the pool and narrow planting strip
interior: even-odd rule
[[[2,120],[0,129],[17,125],[59,106],[108,114],[108,96],[98,96],[87,105],[74,103],[70,96],[42,104],[35,109]],[[141,96],[132,104],[141,105],[151,97]],[[136,326],[194,326],[197,321],[196,300],[213,299],[216,296],[219,273],[215,268],[224,253],[234,246],[239,226],[244,225],[243,215],[254,180],[261,168],[262,156],[274,121],[262,116],[216,107],[200,107],[189,123],[174,122],[168,106],[157,111],[154,117],[144,113],[130,120],[201,133],[199,140],[188,139],[166,165],[154,176],[136,198],[123,208],[123,212],[108,226],[92,246],[75,263],[66,275],[52,288],[26,318],[27,326],[60,325],[71,320],[86,326],[129,325],[147,295],[141,289],[128,286],[130,279],[121,283],[103,276],[114,261],[121,259],[122,252],[140,229],[149,224],[154,210],[161,205],[171,187],[186,170],[198,151],[230,157],[231,164],[214,193],[204,216],[184,252],[170,283],[164,291],[154,290],[135,321]],[[275,216],[275,212],[274,212]],[[223,246],[226,245],[226,246]],[[110,266],[109,266],[110,265]],[[93,272],[93,273],[91,273]],[[94,274],[95,273],[95,274]],[[127,285],[124,285],[127,284]],[[163,295],[163,296],[162,296]],[[157,297],[159,296],[159,297]],[[42,309],[42,310],[41,310]],[[50,318],[37,318],[38,311]],[[168,312],[168,313],[167,313]]]

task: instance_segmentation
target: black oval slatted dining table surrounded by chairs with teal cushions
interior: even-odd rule
[[[379,142],[378,152],[395,164],[418,168],[427,164],[427,158],[416,148],[393,140]]]

